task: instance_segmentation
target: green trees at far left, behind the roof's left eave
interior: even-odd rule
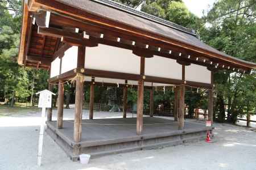
[[[18,65],[20,38],[21,1],[0,2],[0,100],[27,101],[34,91],[47,87],[48,74],[44,70],[34,70]],[[35,74],[32,74],[34,73]],[[32,84],[32,79],[35,79]],[[13,103],[10,103],[13,105]]]

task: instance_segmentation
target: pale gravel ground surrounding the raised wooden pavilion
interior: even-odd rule
[[[96,118],[122,117],[122,113],[96,112]],[[132,114],[128,114],[132,116]],[[135,115],[134,115],[135,116]],[[83,117],[88,117],[84,111]],[[64,119],[73,109],[64,110]],[[53,120],[56,119],[56,111]],[[192,120],[187,120],[192,121]],[[143,150],[91,159],[88,165],[71,162],[45,135],[42,167],[36,165],[40,113],[0,118],[0,169],[256,169],[256,131],[229,124],[214,124],[212,143],[204,141],[157,150]]]

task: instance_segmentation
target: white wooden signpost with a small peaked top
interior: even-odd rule
[[[51,91],[43,90],[37,92],[36,95],[40,94],[38,107],[42,108],[42,122],[40,126],[40,134],[38,141],[38,165],[41,166],[42,150],[43,150],[43,137],[44,137],[44,125],[46,124],[46,108],[52,107],[52,95]]]

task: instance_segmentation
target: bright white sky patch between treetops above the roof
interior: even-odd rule
[[[189,11],[200,18],[203,16],[203,10],[206,11],[209,6],[212,7],[215,1],[216,0],[183,0]]]

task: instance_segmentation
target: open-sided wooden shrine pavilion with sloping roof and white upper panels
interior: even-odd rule
[[[59,84],[57,121],[48,111],[47,133],[77,160],[177,145],[205,137],[205,126],[184,123],[185,87],[209,90],[213,117],[213,71],[249,74],[243,61],[201,42],[188,28],[110,0],[24,0],[19,65],[47,69]],[[76,82],[75,119],[63,121],[65,81]],[[123,88],[123,118],[93,120],[94,86]],[[90,86],[90,120],[82,120],[84,86]],[[137,118],[125,118],[127,88],[138,88]],[[144,88],[175,86],[175,121],[143,118]],[[52,86],[49,86],[51,90]],[[144,123],[143,123],[144,122]]]

